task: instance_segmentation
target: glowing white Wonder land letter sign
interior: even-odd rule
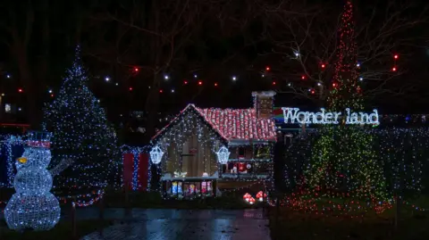
[[[344,119],[345,124],[373,124],[379,125],[378,112],[372,113],[350,112],[346,108],[346,116],[341,116],[342,112],[301,112],[299,108],[282,107],[284,123],[301,123],[301,124],[339,124],[339,120]]]

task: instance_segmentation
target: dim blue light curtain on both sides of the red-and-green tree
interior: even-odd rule
[[[377,155],[374,161],[383,162],[381,168],[388,183],[384,191],[390,196],[385,201],[376,201],[375,199],[371,201],[387,204],[392,203],[391,196],[394,194],[400,194],[412,199],[421,195],[424,186],[428,183],[424,170],[427,170],[425,159],[429,155],[429,129],[393,128],[362,129],[362,131],[364,132],[363,134],[373,136],[377,143]],[[300,189],[299,187],[305,186],[306,179],[303,176],[303,172],[311,162],[314,145],[317,142],[317,137],[321,134],[320,130],[314,129],[311,132],[292,138],[285,156],[289,161],[284,170],[285,185],[289,189]],[[312,199],[314,203],[317,203],[317,199],[322,197],[317,189],[315,191],[307,189],[307,192],[300,191],[302,190],[294,190],[295,195],[292,196],[305,198],[299,193],[308,194],[307,199]],[[353,196],[353,192],[335,193],[335,191],[332,191],[324,194],[327,198],[340,199],[341,201],[357,202],[357,199],[359,199],[356,195]],[[359,201],[363,200],[359,199]],[[421,209],[421,207],[417,208]]]

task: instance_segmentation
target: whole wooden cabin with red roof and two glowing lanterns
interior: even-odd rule
[[[274,92],[254,92],[249,109],[189,104],[152,138],[164,197],[214,196],[218,189],[260,184],[271,188]],[[260,189],[262,190],[262,189]]]

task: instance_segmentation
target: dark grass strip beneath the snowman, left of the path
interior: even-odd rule
[[[82,220],[77,222],[76,235],[79,239],[94,231],[113,224],[108,220]],[[60,221],[55,228],[45,232],[18,233],[9,230],[4,222],[0,222],[0,239],[2,240],[75,240],[72,238],[71,222]]]

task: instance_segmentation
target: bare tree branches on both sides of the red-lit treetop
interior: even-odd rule
[[[324,102],[327,90],[332,86],[340,11],[330,6],[313,9],[307,5],[305,8],[307,10],[301,11],[305,14],[295,14],[294,17],[290,17],[290,6],[266,10],[271,17],[266,37],[274,46],[266,55],[282,57],[278,70],[272,73],[273,77],[283,81],[279,92]],[[427,36],[414,37],[408,32],[429,22],[428,7],[418,8],[411,2],[389,2],[385,6],[374,3],[366,8],[355,11],[357,59],[360,78],[364,81],[364,95],[371,98],[405,94],[413,87],[392,87],[389,83],[407,72],[404,63],[409,62],[410,56],[400,54],[395,63],[393,54],[400,48],[418,46],[419,41],[427,39]],[[384,15],[380,14],[382,11]],[[392,70],[393,67],[396,69]],[[314,95],[309,95],[310,89]]]

